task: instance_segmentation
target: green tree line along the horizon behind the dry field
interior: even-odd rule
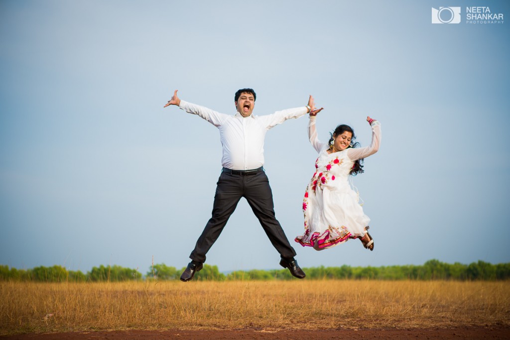
[[[36,282],[120,282],[129,280],[179,280],[186,267],[157,264],[150,266],[145,275],[138,269],[121,266],[93,267],[87,273],[67,270],[62,266],[35,267],[32,269],[9,268],[0,265],[2,281],[36,281]],[[388,266],[388,267],[313,267],[304,268],[307,279],[373,279],[373,280],[508,280],[510,263],[493,265],[478,261],[469,265],[460,263],[447,264],[437,259],[428,260],[423,265]],[[204,265],[195,274],[194,280],[290,280],[292,276],[286,269],[249,270],[221,273],[217,266]]]

